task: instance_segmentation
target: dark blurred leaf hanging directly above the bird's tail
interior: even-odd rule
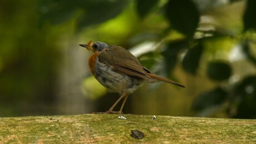
[[[168,44],[168,48],[164,50],[162,55],[164,56],[166,73],[169,74],[176,65],[178,60],[178,54],[181,50],[185,49],[188,45],[186,40],[178,40]]]

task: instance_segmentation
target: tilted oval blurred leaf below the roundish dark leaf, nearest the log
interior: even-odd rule
[[[199,111],[207,109],[208,107],[220,105],[226,97],[227,92],[225,90],[220,87],[215,88],[196,97],[192,104],[192,109]]]

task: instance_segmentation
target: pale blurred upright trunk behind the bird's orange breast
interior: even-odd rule
[[[86,114],[92,111],[92,102],[82,94],[81,83],[85,78],[87,66],[86,54],[77,43],[63,46],[63,61],[60,68],[59,83],[56,89],[58,113]]]

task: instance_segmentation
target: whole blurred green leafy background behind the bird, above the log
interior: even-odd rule
[[[152,72],[125,113],[255,119],[254,0],[0,1],[0,116],[106,111],[90,40],[121,45]]]

